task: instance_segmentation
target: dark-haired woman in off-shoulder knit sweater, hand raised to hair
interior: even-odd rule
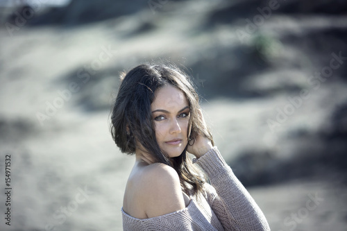
[[[270,230],[214,146],[182,71],[166,65],[130,70],[111,121],[117,146],[135,154],[121,209],[124,230]]]

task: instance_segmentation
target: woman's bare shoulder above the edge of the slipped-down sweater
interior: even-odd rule
[[[140,168],[131,178],[136,182],[132,187],[135,194],[130,192],[133,203],[137,204],[133,207],[142,216],[137,218],[161,216],[185,208],[180,179],[171,166],[150,164]]]

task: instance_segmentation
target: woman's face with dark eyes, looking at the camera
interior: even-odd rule
[[[188,143],[189,104],[185,94],[172,85],[155,91],[151,104],[155,136],[169,157],[179,156]]]

